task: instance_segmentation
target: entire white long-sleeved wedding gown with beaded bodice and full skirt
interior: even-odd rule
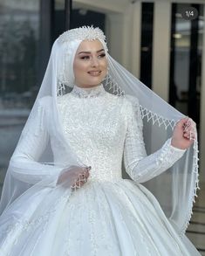
[[[65,188],[55,189],[60,168],[37,163],[48,142],[48,131],[38,128],[40,121],[51,121],[48,102],[49,97],[41,100],[41,118],[10,161],[12,175],[34,185],[0,218],[0,256],[200,255],[140,184],[167,170],[184,150],[172,147],[169,139],[147,156],[140,114],[128,98],[107,93],[102,85],[74,86],[58,99],[60,119],[65,138],[92,170],[87,183],[70,195]],[[66,156],[55,140],[53,155],[61,163]],[[133,180],[121,177],[123,156]],[[52,186],[35,190],[46,176],[54,177]]]

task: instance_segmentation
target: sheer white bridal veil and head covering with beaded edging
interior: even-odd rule
[[[44,128],[45,123],[47,125],[46,128],[51,131],[52,135],[58,138],[58,143],[61,147],[64,147],[67,156],[66,162],[55,162],[55,153],[51,150],[51,141],[48,139],[44,154],[32,163],[25,163],[25,171],[31,164],[36,166],[37,173],[34,173],[33,179],[36,176],[41,176],[40,180],[37,178],[36,182],[29,184],[28,182],[19,181],[13,175],[13,160],[15,157],[11,157],[3,184],[0,213],[9,207],[25,190],[35,188],[35,191],[38,191],[44,185],[51,186],[55,190],[53,184],[56,183],[59,174],[65,171],[66,168],[68,170],[73,170],[73,166],[85,168],[85,164],[80,162],[79,157],[72,151],[69,142],[65,140],[58,118],[57,99],[65,93],[69,93],[69,90],[72,89],[74,82],[72,64],[79,44],[82,40],[96,38],[100,40],[106,49],[106,58],[108,59],[108,73],[106,80],[103,82],[106,91],[114,93],[119,97],[131,95],[133,103],[136,98],[139,100],[144,125],[143,135],[148,155],[161,148],[167,138],[171,137],[175,123],[184,117],[183,114],[167,104],[166,101],[152,92],[109,55],[106,48],[105,35],[99,28],[82,27],[65,31],[52,46],[51,57],[44,74],[44,80],[15,152],[18,150],[19,143],[24,141],[25,135],[31,132],[32,123],[35,122],[36,118],[40,118],[42,126],[32,132],[38,135],[38,131]],[[49,122],[49,127],[44,120],[44,112],[39,111],[41,107],[39,102],[44,97],[49,99],[47,107],[51,108],[52,113],[52,121]],[[13,156],[15,156],[15,152]],[[72,184],[73,176],[71,176],[68,182],[70,185]],[[195,200],[198,188],[197,136],[195,135],[193,146],[186,151],[179,161],[174,163],[172,168],[160,176],[154,177],[145,185],[158,199],[167,218],[169,218],[175,230],[182,236],[188,226],[193,201]]]

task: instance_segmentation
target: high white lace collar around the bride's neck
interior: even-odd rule
[[[104,86],[100,84],[99,86],[93,87],[79,87],[74,85],[72,89],[72,94],[79,98],[93,98],[98,97],[102,93],[105,93]]]

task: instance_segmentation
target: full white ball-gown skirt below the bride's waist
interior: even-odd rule
[[[189,240],[185,246],[152,193],[130,180],[92,181],[72,194],[34,185],[3,218],[0,233],[10,235],[1,239],[1,256],[200,255]]]

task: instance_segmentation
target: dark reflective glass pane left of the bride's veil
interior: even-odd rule
[[[38,91],[38,1],[0,0],[0,194]]]

